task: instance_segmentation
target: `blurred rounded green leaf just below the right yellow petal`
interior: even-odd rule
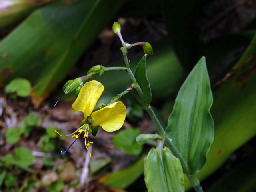
[[[142,146],[136,142],[136,137],[140,134],[140,129],[129,128],[118,132],[113,137],[113,144],[116,148],[131,155],[138,155]]]

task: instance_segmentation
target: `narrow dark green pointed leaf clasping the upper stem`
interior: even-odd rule
[[[148,107],[152,99],[150,83],[148,81],[147,71],[146,71],[146,58],[147,58],[147,55],[145,54],[140,60],[140,62],[138,63],[134,73],[136,81],[139,84],[144,94],[144,100],[139,99],[140,103],[144,107]],[[138,96],[136,97],[138,99]]]

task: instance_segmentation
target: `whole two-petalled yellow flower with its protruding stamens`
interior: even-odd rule
[[[92,144],[92,142],[88,140],[88,133],[90,133],[91,131],[91,126],[101,126],[102,129],[107,132],[112,132],[120,129],[124,124],[126,116],[126,107],[121,101],[114,102],[108,106],[101,108],[100,110],[94,111],[94,108],[103,90],[104,86],[100,82],[95,80],[89,81],[86,84],[84,84],[84,86],[81,88],[78,94],[78,97],[72,104],[72,108],[74,110],[81,111],[84,113],[84,119],[86,124],[84,124],[75,132],[69,135],[61,135],[59,134],[59,132],[55,132],[61,136],[72,135],[72,137],[75,137],[76,140],[82,134],[82,132],[84,132],[84,143],[86,149],[88,150],[87,146]],[[69,148],[70,147],[68,147],[68,149]],[[65,153],[66,151],[62,153]],[[91,153],[89,154],[91,156]]]

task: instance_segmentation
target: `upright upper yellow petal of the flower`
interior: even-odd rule
[[[89,81],[81,88],[72,108],[84,112],[84,118],[90,116],[97,104],[104,86],[98,81]]]

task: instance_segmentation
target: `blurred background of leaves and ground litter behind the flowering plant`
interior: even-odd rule
[[[124,97],[124,128],[99,130],[91,159],[82,142],[61,156],[71,140],[52,134],[82,118],[71,110],[73,95],[52,107],[67,80],[96,64],[123,66],[115,20],[126,42],[154,48],[147,72],[163,124],[187,74],[206,57],[215,136],[198,176],[206,191],[256,190],[255,0],[0,0],[0,190],[146,191],[143,159],[155,143],[142,148],[135,138],[156,130],[132,94]],[[142,55],[141,47],[129,51],[132,68]],[[105,86],[100,102],[130,85],[124,72],[94,79]]]

